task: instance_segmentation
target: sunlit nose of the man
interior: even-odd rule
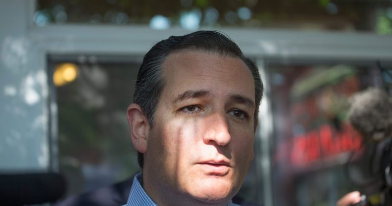
[[[206,131],[203,141],[207,145],[225,146],[230,143],[231,135],[225,115],[212,114],[205,121]]]

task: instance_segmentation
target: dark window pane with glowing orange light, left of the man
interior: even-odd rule
[[[139,66],[55,64],[58,164],[67,196],[125,180],[139,170],[126,118]]]

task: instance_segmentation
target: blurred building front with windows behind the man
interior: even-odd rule
[[[392,0],[0,0],[0,28],[0,172],[58,172],[61,200],[139,170],[126,109],[143,55],[171,35],[220,30],[257,62],[240,196],[260,205],[335,206],[356,189],[349,98],[392,94]]]

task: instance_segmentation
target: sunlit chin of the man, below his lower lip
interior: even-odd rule
[[[207,203],[228,202],[237,193],[233,183],[219,178],[204,179],[191,188],[191,195],[197,200]]]

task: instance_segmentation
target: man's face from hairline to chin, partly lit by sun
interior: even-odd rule
[[[170,54],[144,154],[144,187],[198,203],[228,202],[253,158],[254,81],[237,57]]]

